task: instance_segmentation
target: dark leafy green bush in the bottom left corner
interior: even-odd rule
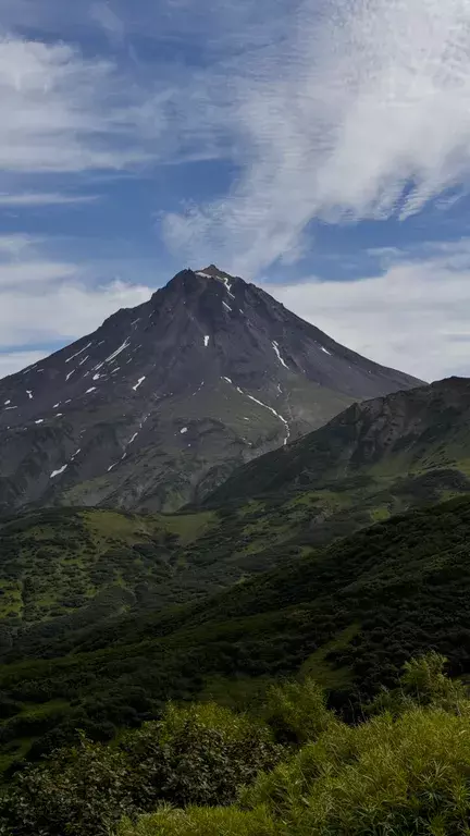
[[[161,802],[230,804],[280,753],[269,728],[245,716],[170,704],[119,749],[83,738],[18,775],[0,799],[0,834],[104,836]]]

